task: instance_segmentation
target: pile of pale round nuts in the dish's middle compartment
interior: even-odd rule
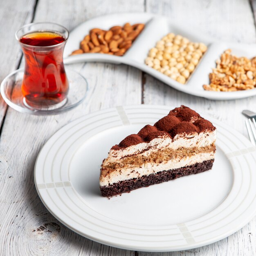
[[[184,84],[206,50],[203,43],[192,43],[185,37],[169,33],[150,49],[145,63]]]

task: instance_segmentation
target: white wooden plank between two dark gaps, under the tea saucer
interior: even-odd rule
[[[57,22],[72,29],[94,16],[135,10],[144,10],[143,0],[115,4],[111,0],[72,3],[39,0],[35,21]],[[1,255],[134,255],[131,251],[92,242],[66,228],[45,209],[36,192],[33,175],[36,156],[54,132],[88,112],[141,103],[141,72],[135,68],[103,63],[70,65],[70,68],[81,72],[92,87],[88,101],[81,106],[46,117],[8,109],[0,141],[0,156],[4,158],[3,163],[9,164],[0,172]]]

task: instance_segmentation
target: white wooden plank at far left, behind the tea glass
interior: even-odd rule
[[[0,56],[2,65],[0,83],[12,71],[16,70],[21,58],[20,45],[15,39],[15,31],[27,22],[31,22],[36,0],[17,0],[0,2]],[[12,18],[10,18],[12,17]],[[11,32],[10,32],[11,31]],[[7,105],[0,96],[0,128]]]

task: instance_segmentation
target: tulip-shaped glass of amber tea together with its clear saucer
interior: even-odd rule
[[[16,32],[25,57],[25,68],[22,79],[22,70],[17,70],[2,82],[1,94],[5,100],[7,98],[7,104],[11,101],[27,108],[21,112],[30,110],[34,114],[45,114],[72,108],[84,99],[88,89],[86,80],[74,71],[65,72],[63,50],[67,38],[65,27],[49,22],[31,23]],[[11,83],[14,83],[12,90]],[[11,107],[19,110],[17,106]]]

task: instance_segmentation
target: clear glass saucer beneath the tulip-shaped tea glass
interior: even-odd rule
[[[15,70],[9,74],[1,83],[0,92],[4,101],[13,109],[31,115],[56,115],[78,106],[87,95],[87,80],[74,70],[65,67],[69,80],[69,92],[67,98],[57,105],[35,109],[29,106],[22,95],[21,84],[24,69]]]

